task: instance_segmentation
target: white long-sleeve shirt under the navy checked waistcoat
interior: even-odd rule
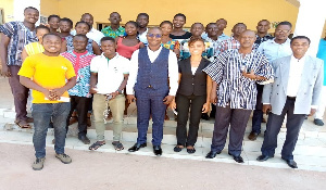
[[[151,62],[154,62],[155,59],[159,56],[162,47],[159,50],[152,51],[149,47],[147,47],[148,56]],[[129,71],[129,78],[126,87],[127,94],[134,94],[134,87],[137,83],[137,75],[138,75],[138,54],[139,50],[136,50],[130,59],[130,71]],[[168,53],[168,78],[170,78],[170,96],[175,96],[178,89],[178,62],[176,54],[174,52]]]

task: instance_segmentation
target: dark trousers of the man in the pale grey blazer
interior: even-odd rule
[[[269,113],[264,142],[261,149],[263,155],[274,156],[275,149],[277,148],[277,135],[279,134],[285,115],[287,115],[287,136],[281,149],[281,157],[293,160],[292,153],[305,118],[305,114],[293,114],[294,103],[296,100],[287,99],[280,115]]]

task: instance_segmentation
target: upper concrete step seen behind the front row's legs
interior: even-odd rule
[[[129,116],[124,118],[124,128],[122,132],[122,140],[127,142],[135,142],[137,139],[137,117],[135,116],[135,111],[128,111]],[[0,109],[0,127],[3,127],[4,130],[14,130],[21,132],[33,132],[33,129],[21,129],[18,126],[14,124],[15,113],[11,109]],[[172,119],[164,122],[164,130],[163,130],[163,143],[165,144],[175,144],[176,143],[176,126],[177,123],[174,121],[173,115],[170,116]],[[113,139],[113,126],[112,119],[108,121],[106,130],[105,130],[105,139]],[[32,124],[33,126],[33,124]],[[266,128],[266,124],[262,124],[262,131]],[[214,129],[214,119],[210,121],[201,121],[198,132],[198,140],[196,145],[208,148],[212,141],[212,135]],[[248,134],[251,131],[251,119],[248,123],[246,128],[244,140]],[[53,135],[53,129],[48,130],[49,135]],[[70,136],[77,136],[78,129],[77,124],[73,124],[70,126]],[[96,130],[95,127],[91,126],[88,128],[88,137],[91,139],[96,139]],[[263,135],[260,135],[263,138]],[[286,137],[286,128],[281,128],[278,138],[285,139]],[[301,128],[299,139],[303,140],[306,138],[326,138],[326,127],[317,127],[312,124],[311,121],[305,121],[303,127]],[[148,129],[148,142],[151,142],[152,139],[152,121],[149,122]]]

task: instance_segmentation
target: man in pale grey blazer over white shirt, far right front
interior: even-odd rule
[[[274,157],[277,135],[287,115],[287,136],[281,150],[281,159],[291,168],[298,168],[292,152],[305,115],[313,115],[321,101],[324,78],[323,61],[305,55],[310,39],[297,36],[291,40],[293,55],[272,62],[275,71],[274,84],[265,85],[263,112],[268,113],[262,155],[258,161]]]

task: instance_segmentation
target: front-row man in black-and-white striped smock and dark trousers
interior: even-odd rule
[[[240,154],[247,123],[255,107],[255,83],[272,80],[274,75],[265,55],[252,50],[254,41],[255,34],[244,30],[239,36],[239,50],[221,53],[203,69],[214,81],[211,101],[216,103],[212,145],[206,159],[222,152],[230,126],[228,154],[243,163]]]

